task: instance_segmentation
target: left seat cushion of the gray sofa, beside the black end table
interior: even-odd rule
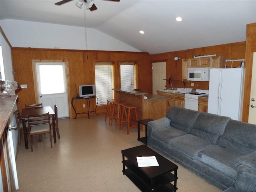
[[[161,142],[169,145],[170,141],[173,138],[176,138],[176,137],[179,137],[179,136],[182,136],[185,134],[187,134],[187,133],[182,130],[178,130],[173,127],[166,127],[163,129],[154,130],[151,133],[151,137],[155,138],[157,140],[160,140]]]

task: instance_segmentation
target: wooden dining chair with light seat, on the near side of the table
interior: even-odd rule
[[[52,131],[50,124],[50,114],[28,115],[28,135],[30,137],[31,151],[33,152],[33,136],[49,133],[52,148]]]

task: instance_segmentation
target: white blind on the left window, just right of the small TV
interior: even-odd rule
[[[104,105],[107,99],[113,99],[112,88],[112,63],[95,62],[95,89],[98,105]]]

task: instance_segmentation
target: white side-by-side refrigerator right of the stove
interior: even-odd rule
[[[244,68],[211,68],[208,113],[242,120]]]

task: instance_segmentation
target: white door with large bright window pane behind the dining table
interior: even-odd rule
[[[64,62],[36,62],[39,103],[58,107],[58,118],[69,116]]]

